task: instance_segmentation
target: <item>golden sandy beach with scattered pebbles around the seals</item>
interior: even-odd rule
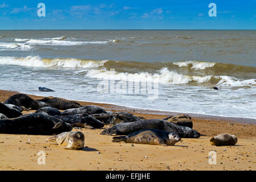
[[[0,101],[17,92],[0,90]],[[32,96],[40,99],[43,97]],[[171,113],[132,109],[110,104],[78,101],[110,111],[127,111],[147,119],[162,119]],[[33,113],[34,110],[23,113]],[[173,113],[175,114],[175,113]],[[176,113],[178,114],[178,113]],[[82,151],[64,150],[46,142],[49,136],[0,134],[0,170],[255,170],[256,125],[250,119],[191,115],[193,129],[202,134],[198,139],[183,138],[175,146],[113,143],[112,137],[100,135],[103,129],[73,129],[85,135]],[[109,126],[104,126],[109,127]],[[216,147],[210,138],[220,133],[238,137],[235,146]],[[46,164],[37,163],[39,151],[46,152]],[[216,151],[217,164],[210,165],[209,151]],[[147,158],[145,158],[147,156]]]

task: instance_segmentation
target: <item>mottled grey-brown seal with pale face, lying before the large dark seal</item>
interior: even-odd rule
[[[181,138],[177,134],[168,133],[157,129],[146,129],[131,133],[126,137],[113,137],[112,142],[140,143],[140,144],[156,144],[162,146],[173,146],[180,141]]]

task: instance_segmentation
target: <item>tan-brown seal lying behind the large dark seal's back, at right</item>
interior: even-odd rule
[[[191,117],[188,114],[178,114],[178,115],[164,118],[164,120],[176,123],[177,125],[180,125],[180,126],[190,127],[190,129],[193,128],[193,122],[191,120]]]

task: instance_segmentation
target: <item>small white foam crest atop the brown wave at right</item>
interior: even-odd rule
[[[178,67],[188,67],[189,65],[192,65],[192,69],[206,69],[206,68],[212,68],[216,63],[213,62],[201,62],[201,61],[178,61],[173,62],[174,65],[178,65]]]

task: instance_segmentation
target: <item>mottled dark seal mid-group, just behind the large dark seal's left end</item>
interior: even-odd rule
[[[104,122],[105,124],[111,125],[116,125],[120,122],[133,122],[140,120],[139,117],[136,117],[135,115],[126,112],[92,114],[91,116],[101,122]]]

